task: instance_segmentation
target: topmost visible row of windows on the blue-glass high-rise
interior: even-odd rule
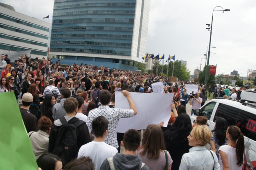
[[[59,0],[55,0],[56,1]],[[62,1],[62,0],[61,0]],[[63,1],[62,1],[63,2]],[[72,7],[86,7],[86,6],[90,6],[90,7],[135,7],[136,3],[83,3],[83,4],[70,4],[68,3],[67,5],[62,5],[62,4],[55,4],[54,5],[54,9],[64,9],[64,8],[72,8]]]

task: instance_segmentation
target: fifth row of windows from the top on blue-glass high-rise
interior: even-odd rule
[[[86,37],[86,38],[116,38],[116,39],[132,39],[132,35],[112,35],[112,34],[54,34],[52,37]]]

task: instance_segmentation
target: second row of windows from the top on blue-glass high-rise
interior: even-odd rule
[[[71,11],[71,12],[62,12],[62,13],[53,13],[53,16],[61,15],[81,15],[81,14],[134,14],[135,11],[128,10],[90,10],[90,11]]]

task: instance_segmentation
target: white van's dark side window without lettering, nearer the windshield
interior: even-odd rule
[[[232,106],[229,106],[227,104],[219,103],[218,108],[216,110],[216,113],[214,115],[214,121],[218,117],[223,117],[227,120],[228,126],[234,125],[238,123],[238,114],[240,110],[238,108],[234,108]]]

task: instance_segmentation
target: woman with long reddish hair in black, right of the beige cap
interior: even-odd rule
[[[29,107],[29,112],[37,117],[37,121],[40,119],[41,114],[39,112],[39,105],[42,103],[40,102],[39,95],[37,94],[37,85],[31,84],[28,88],[28,93],[31,93],[33,96],[33,103]]]

